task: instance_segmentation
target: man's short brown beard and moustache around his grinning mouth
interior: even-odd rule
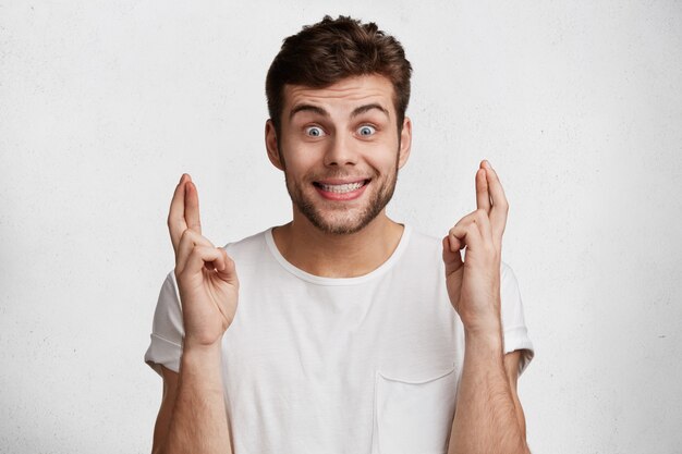
[[[343,177],[344,174],[326,174],[324,177]],[[369,200],[362,207],[334,207],[325,208],[321,204],[316,204],[314,196],[303,191],[302,184],[292,181],[287,171],[284,171],[284,180],[287,182],[287,191],[291,197],[293,205],[307,218],[308,221],[324,233],[334,235],[349,235],[360,232],[369,224],[386,208],[393,197],[395,183],[398,181],[398,158],[395,165],[383,180],[379,180],[375,172],[370,183],[379,185],[370,195]],[[309,187],[316,180],[322,177],[305,179],[305,187]]]

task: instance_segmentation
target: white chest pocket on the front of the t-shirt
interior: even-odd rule
[[[405,380],[376,373],[375,441],[379,454],[444,454],[452,429],[454,367]]]

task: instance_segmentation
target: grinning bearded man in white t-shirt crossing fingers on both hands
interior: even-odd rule
[[[163,377],[154,452],[527,452],[516,378],[532,345],[495,170],[482,162],[477,210],[442,242],[386,214],[410,74],[373,23],[325,17],[284,41],[265,136],[285,225],[215,247],[182,176],[146,355]]]

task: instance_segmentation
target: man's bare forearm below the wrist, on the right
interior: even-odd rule
[[[504,371],[501,332],[466,334],[449,454],[526,454],[523,412]]]

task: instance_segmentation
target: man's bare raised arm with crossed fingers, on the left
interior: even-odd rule
[[[162,369],[153,452],[232,453],[220,343],[234,318],[239,281],[226,250],[202,236],[198,195],[188,175],[175,188],[168,226],[185,336],[179,373]]]

